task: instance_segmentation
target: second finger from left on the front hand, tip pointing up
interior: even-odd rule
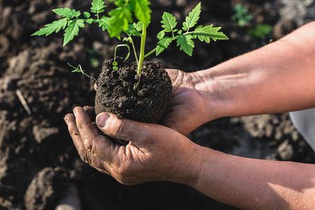
[[[102,158],[104,162],[111,163],[116,156],[118,146],[115,146],[110,139],[99,134],[97,127],[92,124],[84,109],[76,107],[73,111],[76,113],[76,125],[87,151]]]

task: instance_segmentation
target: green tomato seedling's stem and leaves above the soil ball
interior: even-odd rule
[[[70,8],[57,8],[52,10],[62,19],[56,20],[48,25],[45,25],[39,31],[36,31],[31,36],[48,36],[53,32],[59,32],[64,29],[64,43],[66,45],[69,41],[73,40],[78,35],[80,28],[85,27],[85,24],[98,24],[103,31],[108,31],[109,35],[117,38],[121,38],[122,34],[125,34],[123,41],[127,41],[132,45],[134,51],[134,57],[137,62],[137,75],[141,75],[142,64],[144,59],[155,52],[155,55],[160,55],[169,45],[176,41],[180,50],[183,50],[188,55],[193,55],[193,48],[195,48],[195,39],[210,43],[210,40],[224,40],[228,39],[223,32],[219,31],[221,27],[213,27],[213,25],[202,26],[197,25],[197,21],[200,19],[201,3],[189,13],[183,22],[182,27],[176,29],[178,22],[174,15],[165,12],[162,15],[162,31],[158,33],[158,44],[156,48],[145,52],[147,27],[151,23],[151,9],[149,8],[150,2],[147,0],[109,0],[115,3],[116,8],[109,11],[108,15],[104,15],[105,1],[93,0],[90,12],[83,12],[84,18],[80,18],[82,15],[80,11],[76,11]],[[137,22],[133,22],[132,17],[137,18]],[[194,29],[195,28],[195,29]],[[141,38],[141,45],[139,49],[139,55],[137,55],[136,46],[134,45],[134,37]],[[118,45],[128,46],[129,45]],[[116,57],[116,50],[115,50]],[[128,56],[129,57],[129,53]],[[118,69],[117,62],[113,63],[113,69]],[[78,68],[76,68],[78,69]],[[79,72],[80,69],[78,70]]]

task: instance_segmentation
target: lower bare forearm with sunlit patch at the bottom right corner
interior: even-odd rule
[[[202,148],[190,186],[241,209],[314,209],[315,166]],[[201,169],[198,165],[202,166]]]

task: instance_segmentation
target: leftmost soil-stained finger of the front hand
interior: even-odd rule
[[[76,127],[76,120],[73,114],[66,115],[64,120],[66,121],[66,125],[68,125],[69,133],[73,140],[73,144],[74,146],[76,146],[78,154],[80,155],[80,158],[87,164],[99,170],[99,172],[110,175],[110,173],[107,172],[106,170],[106,165],[104,165],[104,162],[102,162],[101,160],[99,160],[99,158],[92,155],[92,153],[87,151],[87,149],[85,148],[83,141],[80,137],[78,128]]]

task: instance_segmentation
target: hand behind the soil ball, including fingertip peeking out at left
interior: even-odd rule
[[[161,124],[187,135],[200,125],[214,120],[218,109],[212,108],[209,76],[199,72],[187,73],[177,69],[166,69],[172,80],[172,99]],[[206,80],[207,78],[207,80]],[[197,86],[197,88],[196,88]],[[97,85],[94,85],[97,90]]]

